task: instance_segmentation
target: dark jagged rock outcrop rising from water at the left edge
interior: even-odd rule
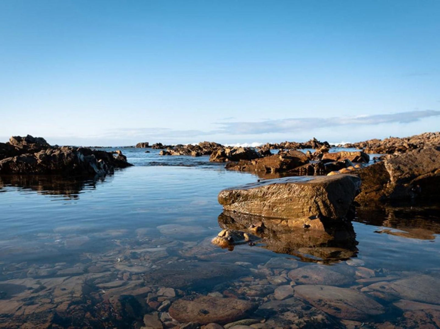
[[[13,136],[0,145],[0,174],[105,175],[114,168],[132,166],[121,151],[51,146],[42,137]]]

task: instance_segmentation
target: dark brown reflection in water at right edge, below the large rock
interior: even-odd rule
[[[390,229],[376,232],[404,238],[433,240],[440,234],[440,206],[436,201],[373,204],[356,209],[355,221]]]

